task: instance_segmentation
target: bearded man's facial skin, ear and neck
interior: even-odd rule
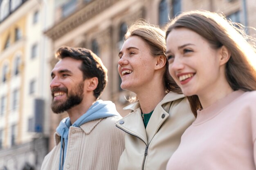
[[[82,102],[67,110],[72,124],[80,118],[96,100],[93,96],[93,90],[97,88],[98,78],[93,77],[83,80],[83,73],[79,69],[81,63],[81,60],[65,57],[58,61],[52,70],[52,82],[50,84],[51,90],[57,87],[67,88],[67,94],[65,92],[54,93],[53,100],[58,103],[65,102],[65,100],[67,100],[68,93],[74,92],[76,90],[74,87],[81,83],[81,81],[84,82]]]

